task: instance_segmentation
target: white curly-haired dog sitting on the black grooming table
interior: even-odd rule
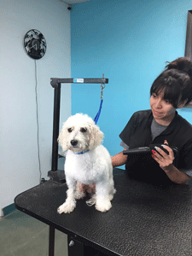
[[[67,200],[57,212],[73,212],[76,200],[85,195],[80,184],[95,189],[87,204],[96,204],[96,210],[100,212],[107,212],[112,207],[116,192],[113,166],[107,148],[101,144],[102,139],[102,131],[86,114],[76,113],[63,124],[58,141],[62,150],[67,151],[65,174],[68,189]]]

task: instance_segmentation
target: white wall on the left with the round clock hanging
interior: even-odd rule
[[[42,177],[51,168],[54,90],[51,77],[71,77],[70,12],[59,0],[0,2],[0,208],[39,183],[35,61],[23,38],[35,28],[47,51],[37,64]],[[62,86],[61,123],[71,114],[71,85]]]

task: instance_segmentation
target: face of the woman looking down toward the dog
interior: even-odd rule
[[[176,108],[163,99],[164,92],[153,93],[150,97],[150,106],[155,121],[160,125],[169,125],[175,116]]]

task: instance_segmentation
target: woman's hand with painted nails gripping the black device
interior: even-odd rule
[[[165,172],[172,172],[174,153],[172,151],[172,148],[168,146],[167,141],[165,141],[164,144],[166,144],[167,146],[163,145],[163,148],[165,148],[169,152],[169,154],[166,154],[166,152],[164,152],[161,148],[155,148],[157,152],[152,150],[152,157],[158,162],[161,169],[163,169]]]

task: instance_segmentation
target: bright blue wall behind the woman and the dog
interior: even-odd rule
[[[116,154],[132,113],[149,108],[149,89],[166,61],[184,55],[189,0],[90,0],[71,12],[72,77],[109,79],[98,125]],[[95,117],[99,84],[72,85],[72,113]],[[179,111],[192,123],[192,109]]]

